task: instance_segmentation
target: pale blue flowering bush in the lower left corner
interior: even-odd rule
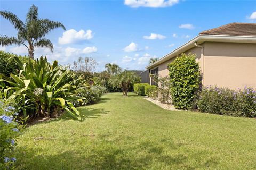
[[[10,169],[16,161],[12,155],[16,145],[15,137],[22,128],[19,122],[14,107],[0,100],[0,169]]]

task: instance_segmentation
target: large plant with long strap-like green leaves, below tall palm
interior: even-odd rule
[[[57,61],[48,63],[46,57],[29,60],[28,64],[13,58],[19,66],[19,74],[3,76],[0,82],[8,84],[4,95],[18,104],[24,116],[56,117],[65,110],[74,118],[81,118],[73,106],[73,101],[85,99],[75,95],[84,88],[81,77],[58,66]]]

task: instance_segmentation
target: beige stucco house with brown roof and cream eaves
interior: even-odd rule
[[[181,53],[196,54],[203,86],[256,88],[255,23],[230,23],[203,31],[146,69],[150,74],[165,77],[169,74],[168,64]],[[149,83],[154,83],[151,78]]]

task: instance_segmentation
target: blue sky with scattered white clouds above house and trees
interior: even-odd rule
[[[144,70],[150,57],[162,57],[199,32],[231,22],[256,22],[256,1],[2,1],[0,10],[11,11],[23,21],[35,4],[39,18],[60,21],[66,27],[46,37],[54,52],[37,49],[35,56],[72,63],[79,56],[92,57],[102,71],[106,63]],[[255,13],[254,13],[255,12]],[[17,31],[0,18],[0,34]],[[26,55],[24,47],[0,50]]]

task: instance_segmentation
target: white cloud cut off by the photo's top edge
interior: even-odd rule
[[[138,7],[167,7],[178,4],[179,0],[125,0],[124,4],[133,8]]]

